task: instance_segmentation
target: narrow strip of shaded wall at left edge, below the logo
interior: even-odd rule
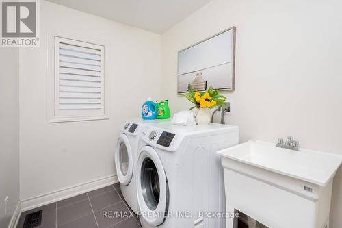
[[[0,227],[7,227],[19,201],[19,52],[0,50]],[[8,196],[7,214],[4,214]]]

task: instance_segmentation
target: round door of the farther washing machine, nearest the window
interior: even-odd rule
[[[133,155],[125,134],[121,134],[118,138],[114,159],[120,183],[128,185],[133,176]]]

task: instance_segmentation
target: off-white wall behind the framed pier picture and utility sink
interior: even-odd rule
[[[236,26],[235,91],[224,94],[240,142],[292,135],[302,147],[342,153],[341,8],[335,0],[213,0],[163,34],[163,96],[173,112],[190,107],[176,94],[177,51]],[[341,178],[332,228],[342,227]]]

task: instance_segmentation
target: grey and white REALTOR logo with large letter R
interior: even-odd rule
[[[38,1],[0,3],[1,47],[38,47]]]

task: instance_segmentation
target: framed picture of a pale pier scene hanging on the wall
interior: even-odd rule
[[[231,27],[178,53],[177,92],[190,86],[196,91],[213,86],[217,90],[234,90],[235,32]]]

